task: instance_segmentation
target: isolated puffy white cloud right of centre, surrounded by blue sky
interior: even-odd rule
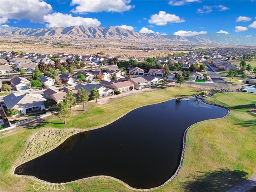
[[[167,25],[167,23],[182,23],[185,22],[185,20],[180,19],[179,16],[176,16],[174,14],[169,14],[165,11],[160,11],[158,14],[154,14],[150,17],[150,20],[148,20],[150,24],[156,24],[158,26],[164,26]]]

